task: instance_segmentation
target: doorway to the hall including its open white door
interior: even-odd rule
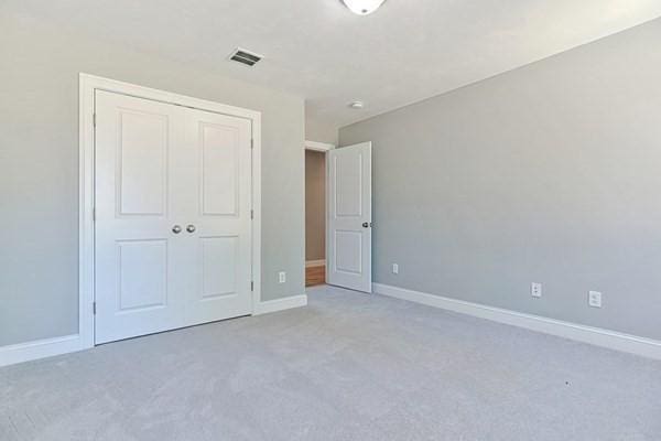
[[[305,141],[305,286],[371,292],[371,142]]]

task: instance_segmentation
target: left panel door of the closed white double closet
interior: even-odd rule
[[[96,343],[183,326],[182,108],[96,93]]]

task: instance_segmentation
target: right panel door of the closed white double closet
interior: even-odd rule
[[[251,121],[189,109],[185,139],[188,323],[250,314]]]

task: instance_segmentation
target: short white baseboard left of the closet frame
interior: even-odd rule
[[[52,357],[82,351],[83,348],[82,340],[78,334],[1,346],[0,366]]]

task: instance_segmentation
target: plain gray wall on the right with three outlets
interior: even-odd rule
[[[657,20],[340,129],[373,141],[375,281],[661,338],[660,41]]]

